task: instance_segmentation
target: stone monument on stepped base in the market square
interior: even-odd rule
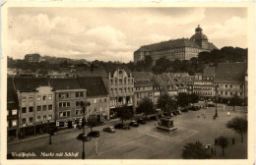
[[[160,118],[160,121],[158,122],[159,126],[157,127],[157,130],[160,132],[173,134],[177,132],[177,128],[173,126],[173,120],[168,117]]]

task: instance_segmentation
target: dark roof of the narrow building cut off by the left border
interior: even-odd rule
[[[13,78],[7,78],[7,109],[19,108],[19,100],[14,88]]]

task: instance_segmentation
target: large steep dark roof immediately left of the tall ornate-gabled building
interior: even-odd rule
[[[80,77],[78,80],[87,89],[88,97],[108,94],[101,77]]]

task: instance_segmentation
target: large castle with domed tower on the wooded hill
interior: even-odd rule
[[[203,29],[198,25],[195,34],[188,38],[180,38],[162,41],[150,45],[145,45],[134,52],[134,63],[142,61],[146,56],[151,56],[153,64],[161,57],[170,61],[190,60],[197,57],[200,52],[218,49],[213,43],[208,41],[208,37],[202,32]]]

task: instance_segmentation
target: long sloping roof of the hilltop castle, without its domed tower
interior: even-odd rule
[[[201,48],[195,41],[188,39],[188,38],[180,38],[168,41],[162,41],[159,43],[154,43],[150,45],[145,45],[136,50],[135,52],[139,51],[156,51],[156,50],[163,50],[163,49],[170,49],[175,47],[197,47]],[[213,44],[208,42],[208,49],[217,49],[217,47]]]

